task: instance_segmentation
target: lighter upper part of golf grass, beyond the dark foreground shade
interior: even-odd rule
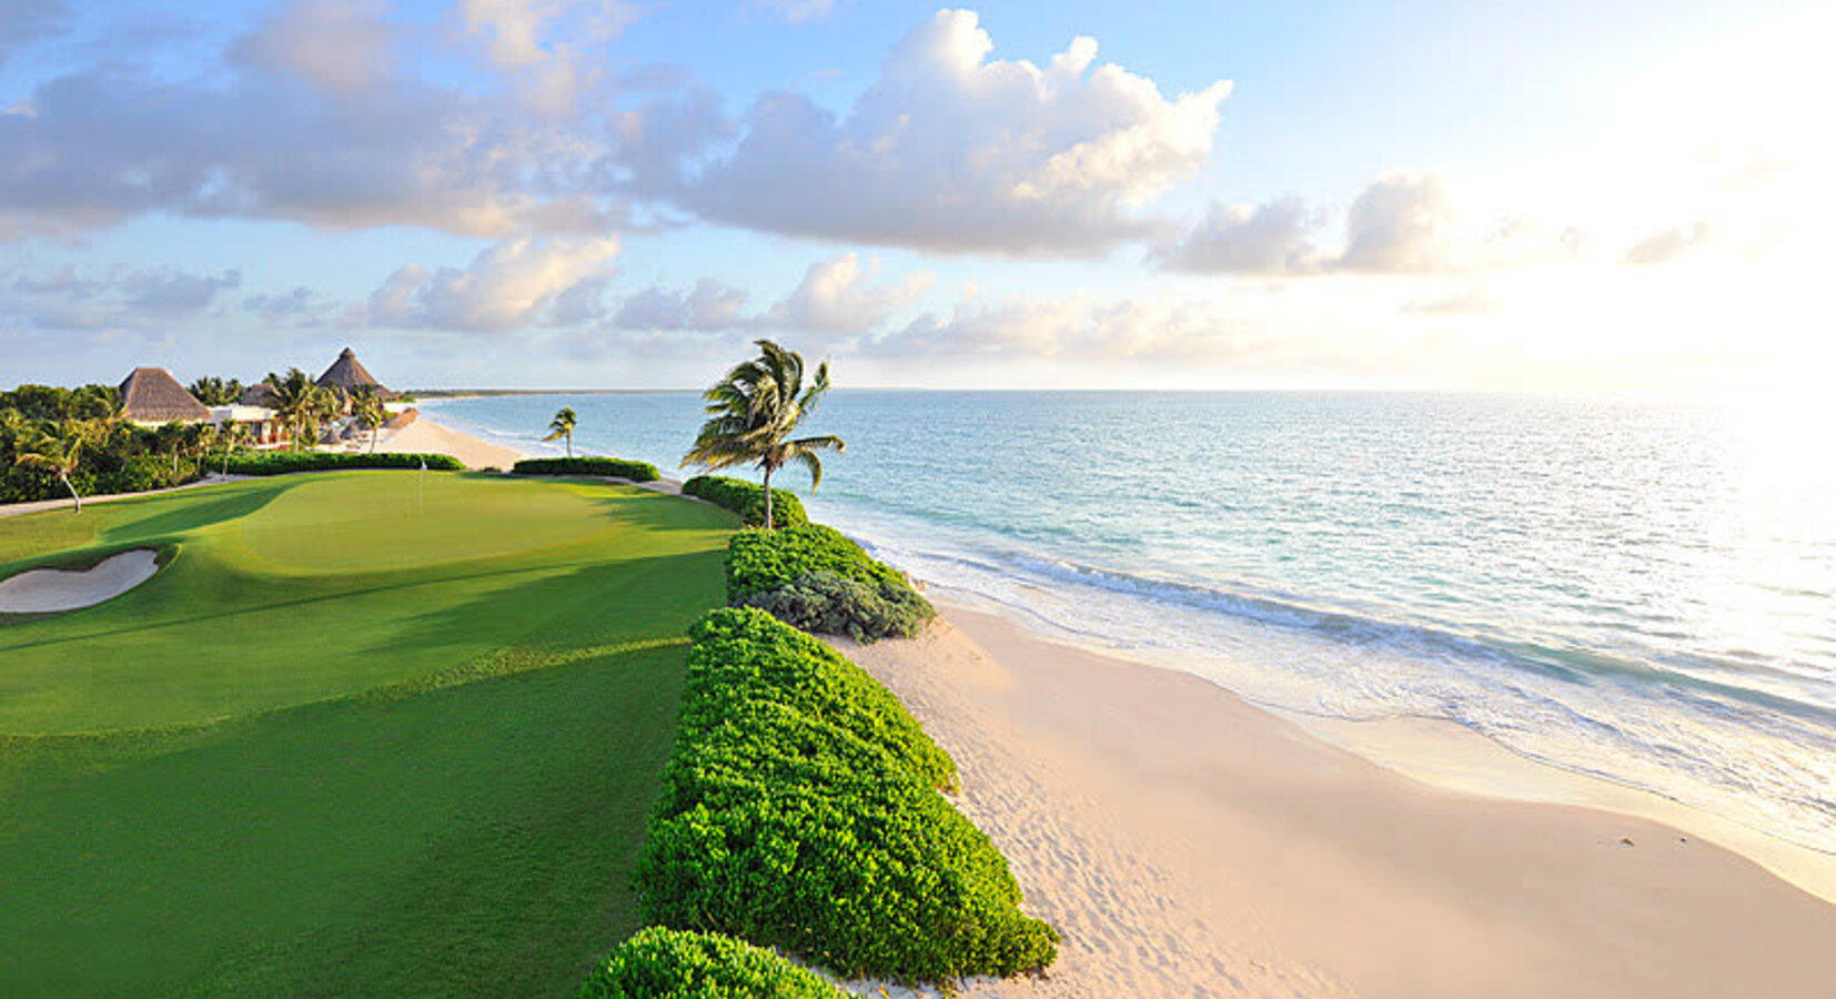
[[[59,542],[176,545],[106,604],[0,626],[0,733],[215,722],[465,668],[507,645],[674,639],[681,613],[648,591],[676,591],[681,560],[718,564],[733,523],[630,487],[419,477],[296,476],[0,520],[4,575]]]

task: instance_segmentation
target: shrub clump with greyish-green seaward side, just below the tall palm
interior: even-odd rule
[[[727,542],[727,602],[856,641],[912,637],[936,617],[911,582],[841,531],[804,523]]]

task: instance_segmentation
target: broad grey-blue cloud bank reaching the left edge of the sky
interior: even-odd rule
[[[380,13],[303,0],[206,72],[119,59],[40,81],[0,112],[0,239],[149,211],[479,237],[611,224],[602,121],[409,72],[406,28]]]

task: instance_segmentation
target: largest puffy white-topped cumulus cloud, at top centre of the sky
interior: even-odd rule
[[[929,250],[1092,252],[1149,231],[1140,211],[1212,152],[1230,83],[1164,97],[1076,39],[1039,68],[990,61],[973,11],[898,42],[837,118],[762,97],[731,154],[652,176],[718,222]],[[1094,66],[1094,68],[1092,68]]]

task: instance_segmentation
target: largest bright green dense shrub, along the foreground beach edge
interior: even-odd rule
[[[1012,975],[1056,957],[1006,859],[936,791],[947,757],[896,698],[758,610],[712,612],[692,637],[637,874],[648,922],[850,977]]]

